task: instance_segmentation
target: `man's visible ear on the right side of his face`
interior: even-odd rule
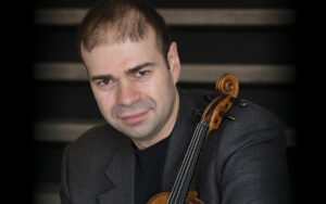
[[[170,49],[167,52],[167,63],[170,65],[170,72],[173,78],[174,84],[176,84],[179,79],[181,65],[179,60],[179,54],[177,50],[177,43],[172,42],[170,44]]]

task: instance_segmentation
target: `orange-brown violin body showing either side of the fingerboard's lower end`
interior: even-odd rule
[[[170,192],[162,192],[155,194],[147,202],[147,204],[166,204],[170,197]],[[204,204],[198,199],[198,193],[193,190],[188,191],[185,204]]]

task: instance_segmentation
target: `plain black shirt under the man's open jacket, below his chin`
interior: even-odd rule
[[[135,204],[146,204],[153,195],[162,192],[162,177],[168,138],[136,153]]]

